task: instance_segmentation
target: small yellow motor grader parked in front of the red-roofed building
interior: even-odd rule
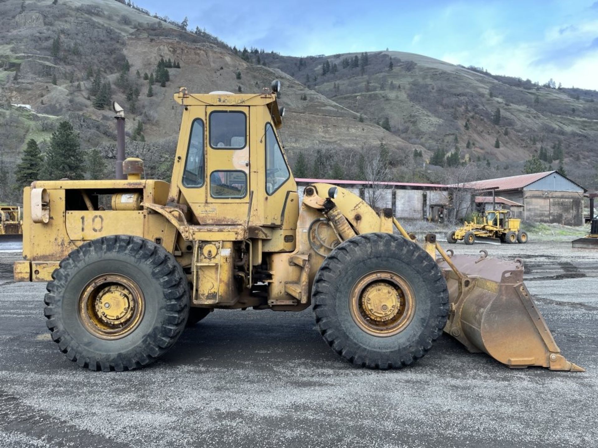
[[[463,227],[446,235],[447,242],[454,244],[463,241],[465,244],[480,243],[514,244],[527,243],[527,232],[519,228],[520,219],[512,218],[508,210],[489,210],[484,213],[481,222],[474,217],[472,222],[465,222]]]

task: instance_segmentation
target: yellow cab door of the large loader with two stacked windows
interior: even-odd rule
[[[206,198],[202,224],[242,224],[249,207],[249,108],[206,108]]]

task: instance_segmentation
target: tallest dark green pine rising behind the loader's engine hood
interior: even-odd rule
[[[83,179],[84,160],[78,134],[68,121],[61,121],[45,155],[44,177],[48,180]]]

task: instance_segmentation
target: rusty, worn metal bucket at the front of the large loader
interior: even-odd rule
[[[445,332],[470,352],[485,352],[514,369],[542,366],[585,372],[560,354],[523,284],[520,259],[487,258],[484,250],[479,258],[447,252],[450,264],[438,259],[451,303]]]

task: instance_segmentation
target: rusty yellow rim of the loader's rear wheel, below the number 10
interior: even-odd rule
[[[139,286],[120,274],[91,280],[79,296],[79,318],[92,335],[120,339],[141,323],[145,299]]]

